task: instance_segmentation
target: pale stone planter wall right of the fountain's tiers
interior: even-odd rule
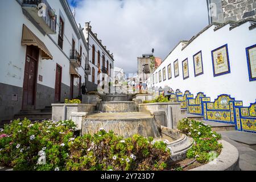
[[[160,123],[164,123],[163,126],[166,126],[170,129],[177,129],[177,123],[182,119],[181,111],[180,111],[180,103],[179,102],[159,102],[159,103],[148,103],[148,104],[139,104],[139,111],[150,111],[154,113],[156,111],[164,111],[165,118],[159,119],[165,120]]]

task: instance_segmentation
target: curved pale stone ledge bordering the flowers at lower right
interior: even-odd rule
[[[189,171],[240,171],[237,148],[225,140],[219,140],[218,143],[222,143],[223,148],[215,164],[208,163]]]

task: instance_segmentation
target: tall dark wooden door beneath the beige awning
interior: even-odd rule
[[[27,46],[26,61],[23,79],[22,108],[35,107],[36,78],[38,71],[39,49],[35,46]]]

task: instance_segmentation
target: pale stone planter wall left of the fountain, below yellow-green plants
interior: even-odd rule
[[[92,104],[52,104],[52,120],[69,120],[71,114],[77,112],[92,112],[96,110],[96,105]]]

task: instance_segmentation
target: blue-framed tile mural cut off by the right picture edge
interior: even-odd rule
[[[250,81],[256,80],[256,44],[246,48],[247,64]]]

